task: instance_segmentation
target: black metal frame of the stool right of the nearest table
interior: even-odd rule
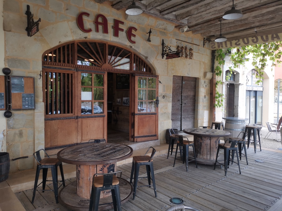
[[[148,162],[143,162],[143,163],[135,163],[134,160],[132,160],[132,168],[131,168],[131,175],[130,175],[130,183],[132,183],[132,179],[133,179],[133,173],[134,173],[134,184],[133,184],[133,200],[135,199],[135,195],[136,195],[136,190],[138,187],[145,187],[145,186],[148,186],[148,187],[151,187],[151,179],[152,179],[152,183],[153,183],[153,187],[154,187],[154,192],[155,192],[155,196],[157,197],[157,190],[156,190],[156,183],[155,183],[155,174],[154,174],[154,167],[153,167],[153,156],[155,155],[156,153],[156,150],[153,148],[153,147],[149,147],[149,149],[147,150],[147,152],[145,153],[145,155],[147,155],[148,151],[150,149],[153,149],[152,150],[152,153],[151,153],[151,156],[150,156],[150,159]],[[139,168],[140,166],[143,166],[143,165],[146,165],[146,170],[147,170],[147,176],[143,176],[143,177],[138,177],[139,175]],[[150,173],[151,173],[151,176],[150,176]],[[147,178],[148,179],[148,185],[140,185],[140,186],[137,186],[137,183],[138,183],[138,179],[139,178]]]

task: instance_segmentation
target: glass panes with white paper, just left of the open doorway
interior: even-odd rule
[[[81,114],[103,114],[104,77],[102,74],[81,73]]]

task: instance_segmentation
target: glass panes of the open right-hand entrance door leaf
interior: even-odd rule
[[[156,112],[156,78],[138,77],[138,112]]]

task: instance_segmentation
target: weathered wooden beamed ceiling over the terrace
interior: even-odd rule
[[[103,3],[106,0],[95,0]],[[133,0],[110,0],[116,10],[124,10]],[[135,1],[144,13],[175,23],[176,28],[188,25],[188,31],[214,39],[220,34],[228,40],[282,32],[282,0],[234,0],[243,12],[237,20],[222,16],[232,7],[232,0],[141,0]]]

